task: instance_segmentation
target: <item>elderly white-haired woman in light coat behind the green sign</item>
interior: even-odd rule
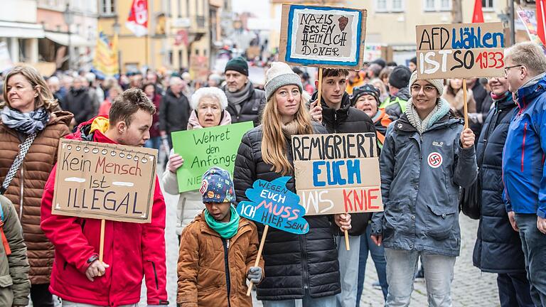
[[[226,107],[228,107],[228,98],[225,97],[223,90],[218,87],[202,87],[196,90],[191,96],[192,111],[188,120],[188,130],[231,124],[231,116],[225,110]],[[183,163],[184,159],[171,150],[167,167],[163,176],[161,176],[163,187],[169,194],[178,194],[176,170]],[[203,197],[198,190],[180,193],[176,211],[176,235],[178,235],[178,239],[180,239],[183,228],[204,208]]]

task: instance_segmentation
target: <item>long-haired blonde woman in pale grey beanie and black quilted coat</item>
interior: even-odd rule
[[[343,85],[343,92],[345,86]],[[311,121],[306,101],[301,95],[301,80],[285,63],[272,63],[266,72],[267,103],[262,124],[242,137],[235,160],[237,203],[248,200],[245,191],[255,181],[274,181],[294,176],[291,136],[326,133]],[[294,178],[287,188],[295,191]],[[257,298],[265,307],[294,306],[296,299],[304,307],[335,306],[341,291],[339,263],[331,221],[341,230],[350,229],[350,215],[305,217],[309,232],[295,235],[269,227],[264,244],[264,279],[257,286]],[[261,237],[264,225],[257,224]]]

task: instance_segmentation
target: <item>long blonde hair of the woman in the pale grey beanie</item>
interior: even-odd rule
[[[298,112],[294,114],[297,123],[297,134],[313,134],[311,115],[306,108],[306,99],[300,95]],[[287,158],[287,141],[282,132],[282,118],[277,107],[275,95],[267,101],[262,114],[262,159],[265,163],[271,164],[271,171],[281,173],[283,176],[294,173],[294,167]]]

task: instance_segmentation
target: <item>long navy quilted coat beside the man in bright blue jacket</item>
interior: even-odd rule
[[[510,119],[517,108],[508,95],[489,112],[479,137],[476,158],[481,180],[481,217],[473,264],[491,273],[524,273],[525,259],[518,232],[508,221],[503,203],[502,154]],[[487,153],[485,156],[483,156]],[[483,162],[480,163],[483,158]]]

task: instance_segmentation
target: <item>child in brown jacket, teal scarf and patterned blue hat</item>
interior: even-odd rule
[[[185,307],[252,306],[245,281],[259,284],[264,267],[261,258],[254,266],[256,225],[232,206],[235,190],[228,171],[210,168],[199,193],[205,209],[182,232],[176,301]]]

